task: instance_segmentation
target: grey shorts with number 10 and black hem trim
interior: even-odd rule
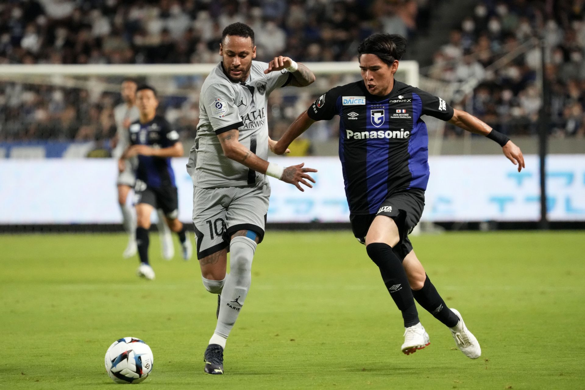
[[[197,258],[224,248],[238,230],[251,230],[264,238],[270,184],[261,181],[242,187],[193,188],[193,223]]]

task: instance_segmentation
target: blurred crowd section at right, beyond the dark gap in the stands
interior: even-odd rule
[[[506,134],[535,134],[542,90],[538,39],[546,42],[552,134],[585,136],[585,2],[483,0],[436,51],[431,78],[477,81],[459,103]],[[449,127],[448,134],[463,130]]]

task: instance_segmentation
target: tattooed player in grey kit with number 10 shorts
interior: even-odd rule
[[[312,187],[308,181],[314,182],[306,172],[316,172],[303,164],[283,168],[266,161],[276,144],[268,137],[268,96],[287,85],[305,87],[314,74],[288,57],[269,64],[253,61],[254,32],[243,23],[223,30],[219,54],[223,61],[201,88],[197,138],[187,165],[203,284],[221,294],[217,326],[204,355],[207,374],[223,374],[223,349],[250,288],[252,259],[264,238],[268,211],[266,175],[304,191],[301,183]]]

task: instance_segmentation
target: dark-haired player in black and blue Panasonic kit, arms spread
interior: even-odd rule
[[[402,312],[404,344],[411,354],[429,345],[414,300],[449,327],[457,348],[478,358],[481,348],[462,316],[449,309],[412,250],[408,234],[425,205],[429,180],[428,134],[422,115],[446,120],[474,134],[493,139],[518,171],[522,152],[504,134],[443,99],[394,80],[406,40],[396,34],[375,34],[360,44],[363,81],[330,89],[288,128],[274,148],[282,154],[316,120],[340,116],[339,158],[349,203],[353,234],[363,244],[390,296]]]

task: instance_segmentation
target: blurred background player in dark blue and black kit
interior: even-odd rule
[[[121,168],[124,160],[138,157],[136,168],[136,244],[140,257],[137,274],[154,279],[154,271],[149,264],[148,247],[150,215],[153,209],[161,209],[170,229],[177,233],[184,260],[191,258],[191,241],[185,234],[183,223],[178,220],[178,194],[175,175],[171,167],[171,157],[183,156],[183,144],[179,134],[160,115],[154,88],[147,85],[136,92],[140,119],[129,127],[130,146],[120,158]]]

